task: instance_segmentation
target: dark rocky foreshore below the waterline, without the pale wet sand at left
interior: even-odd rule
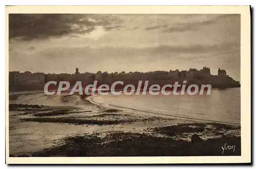
[[[125,114],[117,109],[102,109],[97,114],[89,114],[91,110],[80,110],[76,107],[57,108],[43,105],[10,104],[9,109],[12,112],[10,116],[26,123],[123,128],[121,131],[93,131],[66,136],[56,139],[51,147],[33,152],[10,153],[10,157],[241,155],[239,125],[142,117]],[[145,127],[148,124],[158,124],[158,127]],[[128,130],[125,129],[126,125],[134,127]]]

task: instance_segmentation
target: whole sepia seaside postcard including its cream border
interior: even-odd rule
[[[251,162],[249,6],[7,6],[6,51],[9,164]]]

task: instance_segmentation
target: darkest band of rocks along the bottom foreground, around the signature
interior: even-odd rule
[[[195,138],[200,138],[194,134]],[[202,140],[200,138],[200,140]],[[115,132],[66,137],[63,142],[32,154],[34,157],[108,157],[108,156],[241,156],[241,137],[210,138],[201,143],[150,134]],[[235,145],[236,150],[222,146]]]

